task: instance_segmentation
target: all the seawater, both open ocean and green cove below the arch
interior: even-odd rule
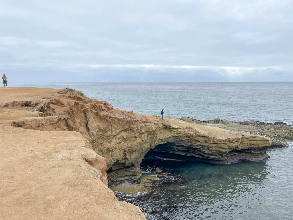
[[[115,108],[137,114],[199,120],[293,123],[293,82],[215,83],[10,83],[11,87],[71,87]],[[143,160],[168,178],[139,194],[118,194],[148,220],[293,219],[293,142],[269,149],[264,162],[211,165]]]

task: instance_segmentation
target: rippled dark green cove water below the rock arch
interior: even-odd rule
[[[159,167],[168,178],[117,197],[147,219],[293,219],[293,146],[268,153],[265,162],[234,165],[144,160],[144,173]]]

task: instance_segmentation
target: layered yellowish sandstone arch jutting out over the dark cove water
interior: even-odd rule
[[[155,129],[139,128],[135,137],[126,138],[124,145],[127,147],[121,147],[125,149],[123,156],[108,166],[109,185],[139,181],[142,175],[140,163],[150,150],[214,164],[260,161],[269,157],[266,154],[270,146],[269,138],[201,126],[178,119],[165,120],[168,127],[164,123],[158,123]]]

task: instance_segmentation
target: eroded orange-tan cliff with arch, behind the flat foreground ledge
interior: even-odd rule
[[[266,150],[270,138],[174,118],[162,120],[158,116],[138,115],[70,90],[5,89],[7,95],[0,98],[0,112],[5,117],[1,117],[0,124],[81,133],[93,150],[106,159],[109,185],[139,180],[139,165],[151,149],[216,164],[261,161],[269,157]],[[14,95],[9,98],[9,94]]]

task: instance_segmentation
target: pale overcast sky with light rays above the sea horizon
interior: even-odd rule
[[[0,0],[8,82],[293,81],[293,1]]]

